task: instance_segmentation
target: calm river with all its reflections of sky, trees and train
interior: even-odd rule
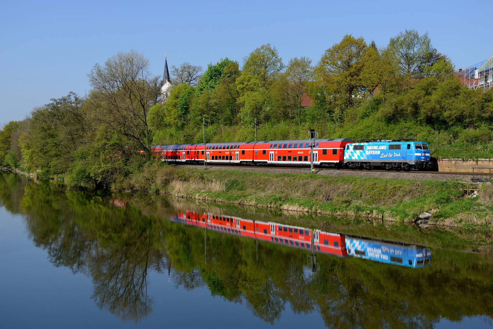
[[[0,205],[0,328],[493,327],[493,256],[467,232],[12,174]]]

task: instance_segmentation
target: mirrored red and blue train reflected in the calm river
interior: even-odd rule
[[[264,240],[307,251],[352,256],[407,267],[429,265],[431,251],[416,245],[329,233],[305,227],[243,219],[233,216],[185,211],[171,221]]]

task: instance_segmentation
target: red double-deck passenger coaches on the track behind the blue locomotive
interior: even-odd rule
[[[315,140],[314,165],[338,167],[344,163],[344,148],[352,143],[349,138]],[[311,162],[311,142],[265,141],[240,143],[158,145],[154,155],[171,163],[243,164],[259,166],[308,167]]]

